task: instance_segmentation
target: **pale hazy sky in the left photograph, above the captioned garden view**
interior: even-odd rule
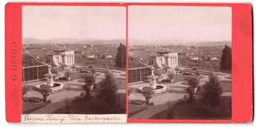
[[[125,7],[23,6],[23,37],[125,39]]]

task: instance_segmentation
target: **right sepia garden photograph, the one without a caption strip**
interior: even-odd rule
[[[129,6],[129,119],[231,120],[232,9]]]

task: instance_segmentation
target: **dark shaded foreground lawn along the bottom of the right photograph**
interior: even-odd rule
[[[223,96],[223,104],[218,110],[211,110],[204,106],[201,100],[194,103],[188,101],[174,101],[174,106],[153,115],[150,119],[186,119],[186,120],[230,120],[231,119],[231,97]]]

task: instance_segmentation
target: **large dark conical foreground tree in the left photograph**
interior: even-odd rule
[[[111,71],[105,71],[105,78],[99,82],[99,90],[97,98],[101,104],[100,109],[104,113],[115,114],[123,109],[120,108],[120,98],[117,93],[117,85]]]

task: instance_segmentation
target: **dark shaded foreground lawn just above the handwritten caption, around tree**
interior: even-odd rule
[[[121,108],[120,112],[115,114],[125,114],[126,112],[126,94],[125,93],[118,93]],[[63,106],[51,114],[104,114],[101,107],[101,104],[97,101],[97,98],[92,97],[89,100],[84,100],[81,98],[77,98],[72,103]]]

